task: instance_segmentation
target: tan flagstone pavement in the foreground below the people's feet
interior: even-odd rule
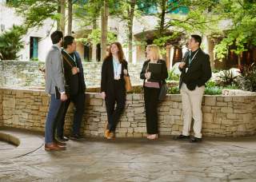
[[[255,139],[70,140],[0,161],[0,181],[256,181]]]

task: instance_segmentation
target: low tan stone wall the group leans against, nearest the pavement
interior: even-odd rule
[[[40,90],[0,89],[2,95],[2,124],[7,127],[44,131],[49,97]],[[204,96],[202,103],[202,134],[208,137],[238,137],[254,135],[256,131],[255,96]],[[182,131],[180,95],[169,95],[160,104],[159,133],[177,135]],[[0,109],[1,113],[1,109]],[[73,116],[71,105],[66,116],[66,133],[70,132]],[[106,109],[98,93],[86,93],[86,110],[82,134],[103,136]],[[128,94],[126,110],[118,124],[117,137],[146,135],[146,118],[142,94]]]

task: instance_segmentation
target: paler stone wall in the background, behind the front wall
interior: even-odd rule
[[[0,86],[15,87],[42,87],[45,81],[38,69],[45,66],[41,61],[0,61]],[[88,87],[99,87],[101,81],[102,62],[84,62],[84,75]],[[132,84],[142,84],[139,73],[142,63],[129,64],[129,73]]]

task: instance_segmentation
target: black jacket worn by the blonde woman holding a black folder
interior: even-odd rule
[[[145,73],[146,73],[146,68],[147,68],[147,65],[149,64],[149,62],[150,62],[150,60],[145,61],[142,66],[142,72],[140,74],[140,77],[141,77],[141,79],[144,79],[143,85],[145,84],[145,80],[146,80]],[[167,67],[166,67],[166,61],[163,61],[160,59],[160,60],[158,60],[158,63],[162,63],[162,72],[161,72],[161,74],[151,73],[150,79],[158,81],[161,86],[162,82],[166,83],[166,78],[168,77],[168,72],[167,72]]]

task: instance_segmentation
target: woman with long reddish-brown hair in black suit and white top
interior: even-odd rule
[[[110,45],[110,51],[102,63],[101,94],[106,101],[107,125],[105,137],[113,139],[118,120],[126,105],[126,82],[128,63],[119,42]],[[116,108],[114,108],[117,103]]]

